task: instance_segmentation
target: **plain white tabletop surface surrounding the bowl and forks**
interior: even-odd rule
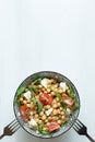
[[[0,0],[0,134],[14,119],[20,83],[38,71],[68,76],[81,98],[79,119],[95,139],[95,0]],[[87,142],[73,129],[52,140],[20,129],[2,142]]]

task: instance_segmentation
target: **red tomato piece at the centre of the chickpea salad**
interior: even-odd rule
[[[39,96],[39,100],[44,104],[44,105],[51,105],[52,103],[52,97],[47,94],[47,93],[43,93],[40,96]]]

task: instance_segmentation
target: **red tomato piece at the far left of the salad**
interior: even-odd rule
[[[27,119],[29,116],[29,108],[26,105],[20,107],[21,115],[23,119]]]

